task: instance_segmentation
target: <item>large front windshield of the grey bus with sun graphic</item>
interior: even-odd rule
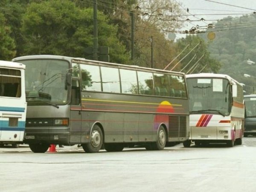
[[[28,105],[67,103],[65,78],[68,62],[53,59],[24,60],[26,65],[26,101]]]

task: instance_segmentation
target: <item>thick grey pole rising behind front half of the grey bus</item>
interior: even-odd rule
[[[98,61],[97,0],[93,1],[93,60]]]

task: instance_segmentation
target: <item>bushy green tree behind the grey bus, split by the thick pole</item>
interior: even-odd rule
[[[127,63],[125,46],[116,38],[117,28],[98,12],[99,46],[110,47],[112,62]],[[53,54],[85,57],[93,45],[93,9],[81,9],[69,0],[31,3],[22,18],[23,55]]]

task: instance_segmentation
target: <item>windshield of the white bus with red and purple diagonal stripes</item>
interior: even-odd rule
[[[227,79],[188,78],[190,113],[230,113],[231,88]]]

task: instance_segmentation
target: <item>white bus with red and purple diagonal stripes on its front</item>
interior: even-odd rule
[[[243,87],[223,74],[186,75],[189,90],[189,147],[209,143],[242,144],[244,130]]]

